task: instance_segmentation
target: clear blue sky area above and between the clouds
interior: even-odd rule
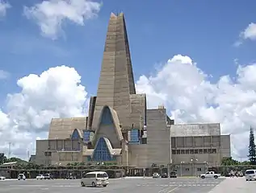
[[[98,18],[83,27],[65,23],[65,37],[57,40],[41,36],[24,17],[23,6],[36,1],[9,2],[12,8],[0,22],[1,69],[10,72],[0,84],[2,100],[6,93],[19,92],[15,82],[20,77],[60,64],[76,68],[94,94],[111,11],[125,14],[136,80],[177,54],[190,55],[213,77],[233,75],[235,59],[241,64],[255,61],[254,43],[233,47],[239,33],[256,20],[255,1],[103,1]]]

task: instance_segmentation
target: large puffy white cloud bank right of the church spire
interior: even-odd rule
[[[155,76],[141,76],[138,92],[147,93],[149,108],[166,105],[175,122],[220,122],[231,133],[233,156],[246,158],[250,125],[256,128],[256,64],[239,66],[235,78],[212,83],[191,58],[175,55]]]

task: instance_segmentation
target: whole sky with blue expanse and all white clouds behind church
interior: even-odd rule
[[[11,6],[2,16],[1,2]],[[0,152],[7,148],[1,139],[10,138],[14,154],[24,155],[24,146],[47,136],[52,117],[82,114],[97,92],[111,11],[122,11],[136,88],[149,107],[166,105],[175,122],[220,122],[232,134],[234,156],[246,158],[250,125],[256,128],[255,1],[65,2],[0,0]],[[97,17],[87,19],[88,7]],[[40,29],[56,21],[55,38],[43,33],[52,33],[49,26]],[[75,70],[55,68],[61,65]]]

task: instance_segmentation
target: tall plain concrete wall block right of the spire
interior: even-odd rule
[[[166,126],[166,109],[147,110],[148,166],[170,163],[170,127]]]

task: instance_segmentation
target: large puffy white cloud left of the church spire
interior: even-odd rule
[[[7,96],[6,111],[0,109],[0,152],[24,158],[35,151],[36,138],[47,138],[52,117],[81,117],[86,113],[87,92],[74,68],[49,68],[17,81],[21,91]]]

